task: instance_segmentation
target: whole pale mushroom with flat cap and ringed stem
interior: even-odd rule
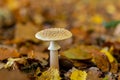
[[[37,32],[35,37],[43,41],[50,41],[48,50],[50,50],[50,67],[59,69],[58,50],[60,46],[56,41],[70,38],[72,33],[64,28],[49,28]]]

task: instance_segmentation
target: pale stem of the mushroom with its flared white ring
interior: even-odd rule
[[[50,50],[50,67],[59,70],[58,50],[60,49],[60,46],[57,42],[51,41],[48,49]]]

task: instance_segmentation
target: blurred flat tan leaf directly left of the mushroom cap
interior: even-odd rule
[[[28,22],[26,24],[18,23],[16,25],[15,30],[15,40],[23,41],[23,40],[33,40],[38,41],[35,38],[35,33],[38,32],[38,27],[35,27],[32,23]]]

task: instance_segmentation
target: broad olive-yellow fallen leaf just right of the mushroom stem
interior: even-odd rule
[[[83,46],[70,48],[63,52],[63,55],[70,59],[87,60],[92,58],[92,54]]]

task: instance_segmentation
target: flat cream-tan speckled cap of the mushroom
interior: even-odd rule
[[[70,38],[72,33],[64,28],[49,28],[36,33],[35,37],[44,41],[58,41]]]

